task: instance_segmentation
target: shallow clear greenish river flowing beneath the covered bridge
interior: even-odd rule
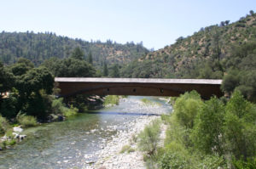
[[[127,130],[127,124],[140,115],[160,115],[172,111],[164,100],[147,97],[157,105],[148,106],[141,99],[143,97],[129,96],[110,108],[79,114],[67,121],[28,128],[22,133],[27,135],[24,141],[16,144],[14,149],[0,152],[0,168],[84,167],[89,161],[96,161],[96,152],[117,132]]]

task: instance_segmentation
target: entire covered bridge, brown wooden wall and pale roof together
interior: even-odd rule
[[[196,90],[203,98],[222,96],[222,80],[210,79],[146,79],[146,78],[74,78],[55,77],[61,96],[78,93],[98,95],[178,96]]]

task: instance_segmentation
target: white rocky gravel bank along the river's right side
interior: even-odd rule
[[[145,105],[143,105],[145,106]],[[148,110],[155,110],[155,106],[147,105]],[[152,113],[148,111],[148,113]],[[86,161],[84,156],[84,169],[144,169],[143,153],[137,149],[137,135],[144,127],[160,118],[161,112],[154,111],[156,115],[140,115],[128,125],[128,130],[118,132],[111,141],[102,145],[102,150],[96,152],[97,161]],[[166,129],[166,128],[165,128]],[[129,149],[121,152],[124,147]],[[90,166],[89,166],[90,164]]]

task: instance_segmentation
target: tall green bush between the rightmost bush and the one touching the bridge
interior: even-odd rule
[[[219,138],[223,133],[223,123],[224,104],[215,97],[206,101],[198,112],[191,134],[195,147],[206,154],[216,152],[223,155],[224,145]]]

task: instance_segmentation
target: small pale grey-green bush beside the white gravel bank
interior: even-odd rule
[[[137,138],[138,148],[148,155],[154,155],[160,140],[160,121],[153,121],[140,132]]]

